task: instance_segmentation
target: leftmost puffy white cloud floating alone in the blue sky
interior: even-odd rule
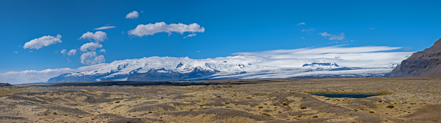
[[[31,40],[29,42],[26,42],[23,48],[43,48],[44,46],[53,45],[56,43],[61,43],[61,35],[57,34],[55,37],[53,36],[43,36],[39,38],[35,38],[34,40]]]

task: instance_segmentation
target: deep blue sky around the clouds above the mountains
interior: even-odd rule
[[[3,0],[0,73],[88,66],[81,62],[80,56],[86,52],[80,47],[96,41],[79,39],[88,31],[106,33],[107,39],[99,42],[102,48],[95,51],[104,56],[105,63],[150,56],[206,59],[233,56],[235,52],[335,45],[407,47],[384,52],[416,52],[441,38],[440,4],[436,0]],[[132,11],[139,13],[138,18],[126,19]],[[205,31],[160,32],[142,37],[127,33],[140,24],[156,22],[197,23]],[[302,22],[305,24],[299,25]],[[93,30],[105,25],[116,27]],[[319,34],[325,32],[336,36],[344,33],[344,38],[329,40],[332,35]],[[38,50],[23,48],[35,38],[57,34],[61,43]],[[196,35],[183,38],[189,34]],[[60,53],[63,49],[78,52],[68,56]],[[98,52],[101,49],[106,52]]]

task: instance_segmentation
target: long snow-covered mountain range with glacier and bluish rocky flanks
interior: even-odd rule
[[[391,66],[396,66],[391,65]],[[260,66],[251,63],[135,61],[114,63],[93,70],[73,72],[50,78],[47,82],[120,81],[191,81],[204,79],[247,78],[342,78],[386,77],[393,67],[343,67],[337,63],[306,63],[290,67]]]

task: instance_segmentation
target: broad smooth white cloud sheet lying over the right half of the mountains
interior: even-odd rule
[[[259,56],[274,61],[296,60],[295,63],[304,64],[307,62],[333,62],[347,67],[381,67],[391,62],[400,63],[404,56],[411,55],[413,52],[380,52],[400,49],[402,47],[386,46],[364,46],[343,48],[339,46],[322,48],[299,48],[299,49],[280,49],[261,52],[236,52],[232,55]],[[340,59],[336,59],[336,56]],[[338,58],[337,57],[337,58]],[[286,65],[285,62],[274,64],[265,63],[269,66]],[[258,64],[258,63],[253,63]],[[261,65],[261,64],[259,64]]]

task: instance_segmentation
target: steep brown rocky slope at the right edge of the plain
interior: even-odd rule
[[[441,77],[441,39],[430,48],[415,52],[395,67],[389,77]]]

